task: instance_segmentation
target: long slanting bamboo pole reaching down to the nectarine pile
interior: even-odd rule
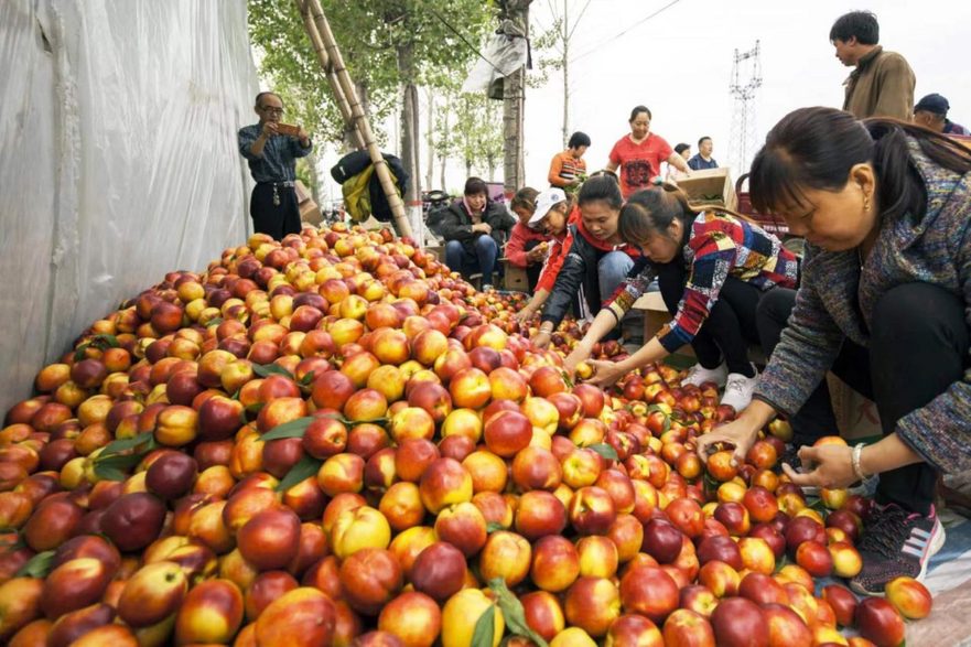
[[[398,187],[391,180],[391,172],[388,169],[387,162],[385,162],[385,158],[381,155],[381,150],[378,148],[375,133],[370,128],[367,116],[360,107],[357,90],[350,80],[347,67],[344,65],[344,58],[341,56],[341,50],[337,48],[337,42],[334,40],[334,32],[331,31],[331,24],[327,22],[327,17],[324,15],[321,2],[320,0],[303,0],[303,2],[305,2],[305,6],[310,9],[309,13],[316,26],[320,40],[324,45],[327,64],[324,64],[324,60],[321,58],[320,54],[317,55],[317,61],[324,66],[324,72],[327,73],[328,77],[331,74],[336,77],[338,85],[343,90],[344,98],[350,108],[350,121],[348,125],[352,128],[355,128],[360,136],[360,139],[364,140],[364,148],[367,149],[367,152],[370,155],[371,164],[375,166],[378,181],[381,183],[381,188],[385,191],[385,197],[388,198],[388,205],[391,207],[391,214],[395,216],[398,234],[401,236],[412,236],[411,224],[408,222],[408,216],[404,213],[404,203],[401,202],[401,196],[398,195]],[[296,4],[298,8],[301,8],[301,0],[296,0]],[[301,11],[301,13],[303,13],[303,11]],[[308,33],[311,40],[313,40],[312,32],[308,30]],[[316,47],[316,44],[314,44],[314,47]],[[339,100],[341,99],[338,98],[338,104]]]

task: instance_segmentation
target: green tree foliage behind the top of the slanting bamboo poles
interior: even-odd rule
[[[404,85],[441,87],[463,75],[476,56],[442,20],[478,45],[493,24],[481,0],[322,0],[350,78],[367,93],[373,125],[390,116]],[[440,20],[438,17],[441,17]],[[319,141],[341,142],[344,121],[321,69],[303,19],[292,0],[249,0],[249,34],[266,85],[283,98],[284,120],[299,121]],[[410,48],[414,65],[402,78],[399,54]],[[387,134],[375,128],[379,143]]]

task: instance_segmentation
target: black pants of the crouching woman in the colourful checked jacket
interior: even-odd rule
[[[688,268],[678,262],[662,265],[658,271],[658,288],[665,305],[672,315],[684,294]],[[719,300],[691,342],[698,362],[704,368],[718,368],[724,355],[729,373],[751,375],[748,345],[759,344],[755,311],[763,292],[755,285],[729,278],[719,292]]]

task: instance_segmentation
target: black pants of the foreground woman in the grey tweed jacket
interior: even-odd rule
[[[773,290],[758,306],[763,348],[772,353],[796,304],[794,290]],[[969,335],[964,308],[954,294],[928,283],[905,283],[876,303],[870,347],[843,343],[831,370],[862,396],[876,402],[883,434],[959,381],[968,369]],[[790,418],[797,444],[837,433],[826,380]],[[937,472],[915,463],[880,475],[876,500],[928,514]]]

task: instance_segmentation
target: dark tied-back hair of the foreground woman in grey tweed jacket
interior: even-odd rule
[[[914,138],[931,162],[958,173],[971,172],[971,150],[950,138],[896,119],[856,121],[835,108],[800,108],[769,131],[752,162],[752,205],[762,213],[786,205],[805,206],[805,191],[840,191],[856,164],[870,163],[876,175],[881,216],[924,217],[927,192],[910,160]]]

